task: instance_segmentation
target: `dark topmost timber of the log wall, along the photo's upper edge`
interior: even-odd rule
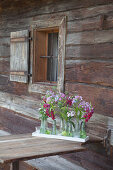
[[[47,14],[47,13],[55,13],[59,11],[66,11],[66,10],[71,10],[71,9],[77,9],[77,8],[83,8],[83,7],[90,7],[90,6],[96,6],[96,5],[104,5],[104,4],[109,4],[110,2],[112,3],[112,0],[81,0],[81,1],[74,1],[71,0],[70,3],[67,3],[67,0],[57,0],[55,1],[52,0],[51,2],[48,1],[28,1],[27,3],[25,1],[21,2],[13,2],[13,3],[8,3],[7,2],[7,8],[6,8],[6,1],[4,3],[2,2],[2,12],[6,13],[9,15],[10,18],[14,18],[15,16],[17,17],[17,14],[19,17],[29,17],[29,16],[35,16],[39,14]],[[27,9],[27,7],[29,8]],[[100,7],[101,8],[101,7]],[[109,5],[107,7],[109,9]],[[92,9],[94,10],[94,9]],[[91,10],[91,11],[92,11]],[[98,14],[98,9],[97,9],[97,14]],[[90,12],[90,11],[89,11]],[[14,15],[15,14],[15,15]],[[5,16],[4,16],[5,17]]]

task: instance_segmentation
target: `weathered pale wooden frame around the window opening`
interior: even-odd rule
[[[30,74],[33,72],[33,58],[34,58],[34,30],[51,30],[55,29],[59,30],[59,38],[58,38],[58,78],[55,83],[48,82],[37,82],[34,83],[32,81],[32,76],[30,77],[29,83],[29,92],[37,92],[37,93],[45,93],[47,89],[50,89],[52,86],[57,86],[59,92],[64,92],[64,70],[65,70],[65,44],[66,44],[66,16],[62,18],[49,19],[49,23],[47,20],[44,22],[35,21],[34,24],[31,25],[31,42],[30,42]],[[46,88],[45,88],[46,87]]]

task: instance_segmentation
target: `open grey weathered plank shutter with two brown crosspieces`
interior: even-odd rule
[[[11,32],[10,81],[28,82],[29,31]]]

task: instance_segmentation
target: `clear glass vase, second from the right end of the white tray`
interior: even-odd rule
[[[77,120],[75,122],[75,128],[74,128],[74,137],[80,138],[80,129],[81,129],[81,121]]]

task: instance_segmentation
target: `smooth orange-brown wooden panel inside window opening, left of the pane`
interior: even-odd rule
[[[47,81],[47,33],[34,30],[33,82]]]

